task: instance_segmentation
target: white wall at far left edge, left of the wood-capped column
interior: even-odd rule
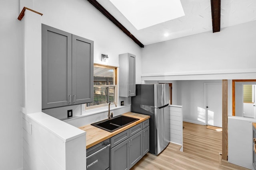
[[[22,50],[19,2],[0,1],[0,169],[22,169]]]

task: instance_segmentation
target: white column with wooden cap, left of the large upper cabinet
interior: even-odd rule
[[[42,111],[41,15],[26,10],[22,20],[25,71],[25,102],[22,112],[28,114]]]

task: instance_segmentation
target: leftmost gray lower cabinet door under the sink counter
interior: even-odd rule
[[[129,170],[130,141],[126,139],[110,152],[110,169],[111,170]]]

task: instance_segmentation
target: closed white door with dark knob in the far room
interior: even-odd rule
[[[204,84],[206,125],[222,127],[222,83]]]

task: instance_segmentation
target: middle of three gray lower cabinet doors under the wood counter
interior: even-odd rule
[[[142,158],[142,131],[130,137],[130,168]]]

